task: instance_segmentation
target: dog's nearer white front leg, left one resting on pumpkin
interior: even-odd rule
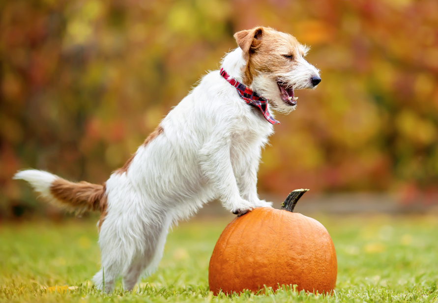
[[[237,187],[230,159],[230,138],[212,136],[199,152],[201,169],[214,186],[222,205],[233,214],[241,216],[254,208],[242,199]]]

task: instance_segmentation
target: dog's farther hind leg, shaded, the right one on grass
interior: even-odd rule
[[[168,216],[157,223],[145,226],[146,249],[141,258],[133,262],[123,274],[123,288],[125,290],[131,290],[142,273],[144,276],[151,275],[160,263],[172,217]]]

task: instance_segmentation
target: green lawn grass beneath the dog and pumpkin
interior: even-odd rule
[[[5,302],[438,302],[438,218],[317,216],[338,257],[332,296],[267,290],[213,297],[208,261],[228,220],[191,220],[170,233],[159,270],[134,292],[106,295],[89,282],[99,268],[95,222],[0,225],[0,301]],[[79,286],[46,293],[41,286]]]

